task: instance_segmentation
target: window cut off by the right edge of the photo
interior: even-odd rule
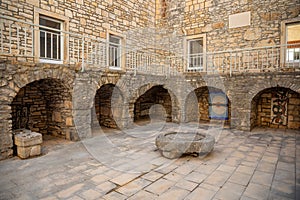
[[[300,23],[286,25],[286,61],[300,61]]]

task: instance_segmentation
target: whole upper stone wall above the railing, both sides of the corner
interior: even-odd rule
[[[280,44],[281,21],[298,17],[297,0],[4,0],[4,15],[34,22],[39,8],[68,19],[70,32],[106,38],[119,33],[128,47],[183,56],[185,36],[206,34],[207,51]],[[229,16],[250,12],[250,25],[229,28]]]

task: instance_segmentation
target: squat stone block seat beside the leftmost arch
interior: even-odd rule
[[[14,141],[20,158],[41,155],[42,134],[27,129],[18,129],[14,131]]]

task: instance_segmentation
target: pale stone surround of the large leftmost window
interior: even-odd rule
[[[61,41],[60,41],[60,60],[51,60],[47,58],[41,58],[41,44],[40,44],[40,17],[50,19],[54,22],[61,23],[61,29],[59,30]],[[59,15],[57,13],[42,10],[40,8],[34,8],[34,24],[38,25],[34,31],[34,57],[35,62],[39,63],[50,63],[50,64],[66,64],[69,61],[69,51],[67,42],[67,32],[69,31],[69,17]]]

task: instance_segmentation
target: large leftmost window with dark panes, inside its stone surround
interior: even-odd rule
[[[63,59],[63,22],[40,15],[40,61],[62,63]]]

